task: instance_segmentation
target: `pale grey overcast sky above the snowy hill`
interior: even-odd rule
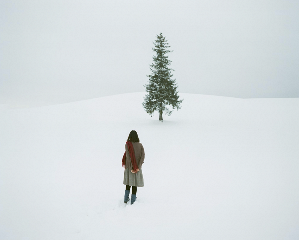
[[[145,91],[160,32],[179,92],[299,97],[298,0],[1,0],[0,103]]]

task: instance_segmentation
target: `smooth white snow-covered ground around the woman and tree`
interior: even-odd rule
[[[299,98],[145,93],[0,107],[0,240],[299,240]],[[136,130],[145,187],[124,204]]]

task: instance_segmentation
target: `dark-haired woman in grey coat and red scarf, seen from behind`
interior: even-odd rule
[[[132,186],[131,204],[133,204],[136,200],[137,187],[144,186],[141,166],[145,159],[145,151],[139,142],[136,131],[130,132],[125,149],[122,161],[125,168],[124,184],[126,185],[124,202],[127,203],[130,200],[129,194]]]

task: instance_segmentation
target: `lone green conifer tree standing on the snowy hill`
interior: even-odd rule
[[[153,63],[149,64],[151,74],[147,75],[149,82],[145,85],[148,94],[144,97],[142,104],[151,116],[154,111],[158,111],[160,121],[163,121],[163,112],[168,116],[172,113],[173,110],[170,110],[168,106],[178,110],[181,108],[180,104],[183,101],[178,100],[177,84],[175,79],[172,79],[173,74],[171,73],[174,70],[168,67],[171,61],[168,60],[166,54],[172,51],[168,50],[170,46],[167,41],[160,33],[154,42],[152,50],[156,55],[153,56]]]

